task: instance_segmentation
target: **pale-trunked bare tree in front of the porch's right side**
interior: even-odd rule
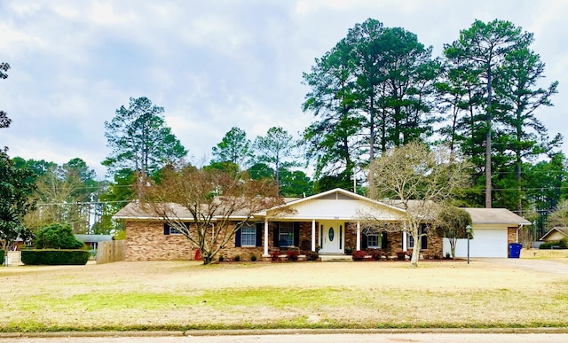
[[[445,147],[430,150],[414,142],[392,148],[371,162],[370,196],[405,210],[402,228],[385,228],[406,231],[414,238],[414,267],[425,235],[422,225],[436,222],[439,206],[469,184],[468,164],[458,160]]]

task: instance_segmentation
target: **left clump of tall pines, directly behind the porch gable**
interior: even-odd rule
[[[367,19],[316,59],[304,82],[304,112],[316,120],[304,131],[317,183],[340,185],[391,146],[432,134],[430,115],[439,63],[411,32]]]

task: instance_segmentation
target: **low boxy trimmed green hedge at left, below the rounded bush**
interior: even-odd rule
[[[84,265],[89,261],[88,250],[22,250],[21,261],[28,265]]]

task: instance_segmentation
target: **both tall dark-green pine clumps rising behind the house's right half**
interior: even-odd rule
[[[351,28],[304,74],[304,111],[315,119],[304,139],[316,178],[347,187],[392,146],[443,142],[474,164],[463,205],[518,214],[556,206],[563,137],[550,138],[537,114],[552,105],[557,82],[541,87],[544,64],[532,43],[508,21],[477,20],[433,58],[401,27],[367,19]]]

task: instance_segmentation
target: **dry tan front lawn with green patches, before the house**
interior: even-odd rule
[[[0,282],[4,331],[568,325],[567,276],[483,261],[116,262]]]

